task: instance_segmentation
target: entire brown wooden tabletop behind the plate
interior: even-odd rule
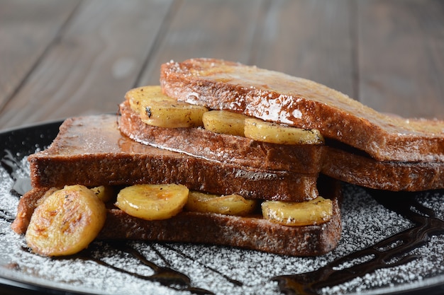
[[[444,1],[0,0],[0,129],[116,112],[160,64],[191,57],[444,120]]]

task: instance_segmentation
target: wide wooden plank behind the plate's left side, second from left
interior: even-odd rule
[[[6,105],[0,126],[116,112],[150,52],[170,4],[155,0],[83,2],[59,42]]]

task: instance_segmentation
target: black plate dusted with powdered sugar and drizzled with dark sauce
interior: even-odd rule
[[[29,187],[26,156],[48,146],[60,123],[0,133],[1,294],[280,294],[285,282],[299,282],[306,294],[444,292],[441,191],[387,193],[344,185],[343,236],[338,248],[318,258],[138,241],[94,242],[87,253],[64,259],[34,255],[10,224]],[[153,279],[155,267],[174,270],[179,279]]]

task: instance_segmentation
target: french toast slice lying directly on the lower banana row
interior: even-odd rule
[[[45,151],[28,157],[33,187],[177,183],[190,190],[299,202],[318,196],[318,175],[209,161],[123,136],[116,115],[65,120]]]

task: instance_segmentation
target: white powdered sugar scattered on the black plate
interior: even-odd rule
[[[11,193],[13,178],[26,178],[28,173],[26,160],[18,163],[23,165],[24,169],[14,176],[0,167],[0,277],[70,291],[87,291],[91,294],[189,293],[177,291],[174,286],[164,286],[159,282],[119,271],[137,272],[145,276],[153,273],[152,268],[141,264],[140,260],[109,243],[94,242],[91,245],[94,259],[77,257],[55,260],[42,258],[26,250],[23,237],[10,229],[18,202],[18,197]],[[444,197],[441,192],[424,192],[418,194],[417,198],[421,204],[433,208],[438,218],[444,219]],[[408,219],[377,203],[366,190],[353,185],[344,185],[342,215],[343,235],[338,247],[331,253],[316,258],[294,258],[189,243],[133,241],[128,242],[128,245],[155,265],[170,267],[187,274],[191,279],[191,286],[195,288],[209,290],[215,294],[279,294],[277,282],[273,282],[272,277],[317,270],[336,258],[362,250],[413,226]],[[387,291],[421,287],[436,280],[443,283],[442,253],[444,236],[435,236],[427,245],[409,253],[418,255],[418,259],[414,261],[369,272],[338,286],[325,287],[320,293],[383,294]],[[114,268],[101,265],[96,260],[106,262]]]

